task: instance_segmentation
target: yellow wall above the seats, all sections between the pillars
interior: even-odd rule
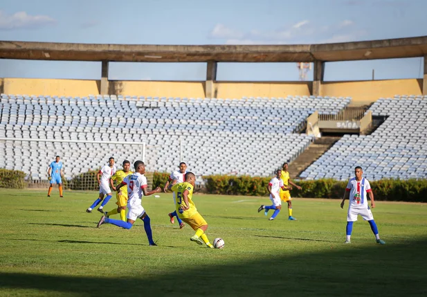
[[[312,82],[215,82],[217,98],[309,96]],[[0,93],[88,96],[100,93],[100,80],[60,80],[0,78]],[[205,82],[110,81],[110,94],[130,96],[205,97]],[[351,105],[364,105],[380,97],[396,94],[422,94],[422,80],[368,80],[360,82],[323,82],[322,96],[350,96]]]

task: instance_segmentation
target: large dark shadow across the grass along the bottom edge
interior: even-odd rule
[[[328,251],[312,253],[257,253],[246,262],[234,262],[235,251],[212,250],[207,252],[219,260],[217,265],[180,269],[179,264],[171,263],[173,269],[163,272],[143,265],[140,270],[114,276],[111,269],[115,267],[105,266],[98,267],[97,276],[1,271],[0,292],[23,294],[14,291],[19,289],[27,290],[26,294],[73,296],[426,296],[426,245],[427,239],[405,244],[388,242],[385,246],[374,242],[334,244]],[[143,257],[138,246],[132,251],[136,251],[135,257]],[[69,263],[70,267],[79,264],[75,261]],[[145,277],[139,276],[141,271],[145,271]]]

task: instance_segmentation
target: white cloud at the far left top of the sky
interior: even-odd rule
[[[13,15],[6,15],[0,10],[0,30],[13,30],[19,28],[35,28],[54,24],[55,19],[47,15],[28,15],[25,11],[15,12]]]

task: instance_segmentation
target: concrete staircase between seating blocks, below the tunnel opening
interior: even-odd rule
[[[311,143],[307,150],[302,152],[297,159],[289,164],[289,175],[291,179],[295,179],[300,176],[300,174],[309,167],[311,163],[314,163],[317,159],[322,156],[329,147],[334,145],[341,137],[340,136],[323,136],[317,138],[314,143]]]

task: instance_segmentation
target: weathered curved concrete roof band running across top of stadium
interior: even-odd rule
[[[0,41],[0,59],[112,62],[334,62],[427,55],[427,36],[300,45],[134,45]]]

